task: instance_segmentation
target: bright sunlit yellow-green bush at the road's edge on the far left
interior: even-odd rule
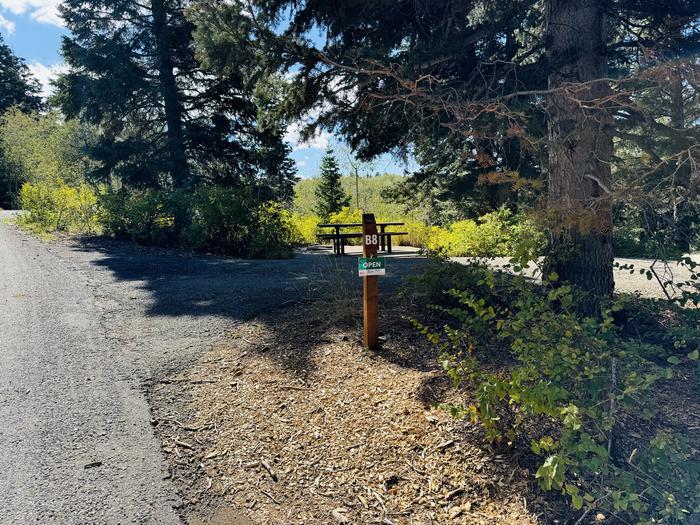
[[[87,184],[61,180],[26,182],[20,190],[20,221],[44,231],[89,233],[99,229],[97,196]]]

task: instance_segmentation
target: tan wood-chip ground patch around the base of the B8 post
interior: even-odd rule
[[[434,407],[449,383],[408,321],[385,315],[378,353],[355,323],[339,329],[318,305],[271,314],[155,386],[191,523],[227,508],[242,524],[527,525],[548,513],[531,472]]]

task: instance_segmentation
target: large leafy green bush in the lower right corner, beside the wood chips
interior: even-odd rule
[[[623,523],[681,523],[700,512],[700,462],[688,439],[651,429],[652,386],[670,365],[698,359],[681,346],[662,366],[613,321],[582,318],[572,288],[555,274],[542,285],[486,268],[465,270],[464,287],[436,307],[457,321],[442,333],[416,326],[438,345],[455,384],[474,401],[447,408],[480,422],[492,441],[528,443],[542,456],[536,478],[574,508],[615,514]],[[493,366],[507,349],[508,366]],[[686,353],[687,352],[687,353]],[[638,433],[639,432],[639,433]]]

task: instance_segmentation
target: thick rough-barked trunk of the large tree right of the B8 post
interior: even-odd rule
[[[604,105],[601,0],[548,0],[549,193],[546,266],[577,286],[580,311],[599,315],[613,292],[611,116]]]

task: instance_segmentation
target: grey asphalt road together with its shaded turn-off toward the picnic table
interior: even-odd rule
[[[341,262],[43,243],[0,213],[0,524],[177,524],[147,387]],[[394,268],[415,264],[397,261]],[[395,274],[401,273],[396,271]]]

